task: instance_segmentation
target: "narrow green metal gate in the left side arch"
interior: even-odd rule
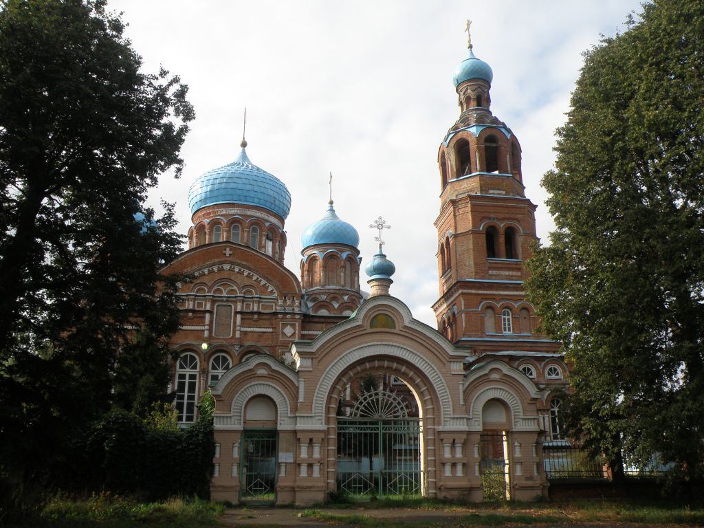
[[[275,503],[277,477],[276,431],[245,431],[241,443],[242,461],[239,501]]]

